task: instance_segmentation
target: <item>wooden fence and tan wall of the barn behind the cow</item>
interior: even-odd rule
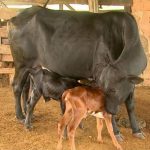
[[[0,1],[0,79],[12,82],[14,75],[13,59],[7,40],[7,26],[5,20],[17,15],[20,11],[32,5],[44,5],[46,0],[1,0]],[[150,2],[149,0],[49,0],[48,8],[90,11],[102,13],[110,10],[127,11],[132,13],[138,23],[141,41],[147,54],[148,65],[141,75],[144,78],[143,86],[150,85],[149,52],[150,52]],[[4,84],[5,85],[5,84]]]

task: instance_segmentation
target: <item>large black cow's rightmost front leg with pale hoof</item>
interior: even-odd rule
[[[128,96],[128,98],[125,101],[131,128],[133,135],[140,139],[145,139],[145,135],[143,132],[141,132],[139,125],[136,120],[136,116],[134,113],[134,94],[133,92]]]

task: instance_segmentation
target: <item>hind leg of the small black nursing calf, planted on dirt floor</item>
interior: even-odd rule
[[[36,89],[34,89],[31,92],[31,96],[27,102],[27,112],[26,112],[26,119],[25,119],[25,126],[27,129],[32,128],[31,119],[33,115],[33,110],[40,97],[41,97],[41,93],[39,93],[39,91],[37,91]]]

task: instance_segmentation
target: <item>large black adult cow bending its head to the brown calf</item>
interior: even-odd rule
[[[106,93],[106,110],[125,102],[134,135],[144,138],[134,113],[134,87],[147,59],[138,27],[126,12],[71,12],[34,6],[10,20],[15,63],[16,116],[24,119],[20,97],[29,69],[41,65],[64,77],[93,78]],[[114,133],[121,139],[113,117]]]

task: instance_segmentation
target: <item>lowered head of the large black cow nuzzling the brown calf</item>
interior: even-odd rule
[[[107,65],[103,69],[98,81],[98,84],[106,94],[106,111],[111,114],[116,114],[118,105],[124,102],[130,93],[133,92],[134,85],[142,81],[142,78],[127,75],[115,65]]]

